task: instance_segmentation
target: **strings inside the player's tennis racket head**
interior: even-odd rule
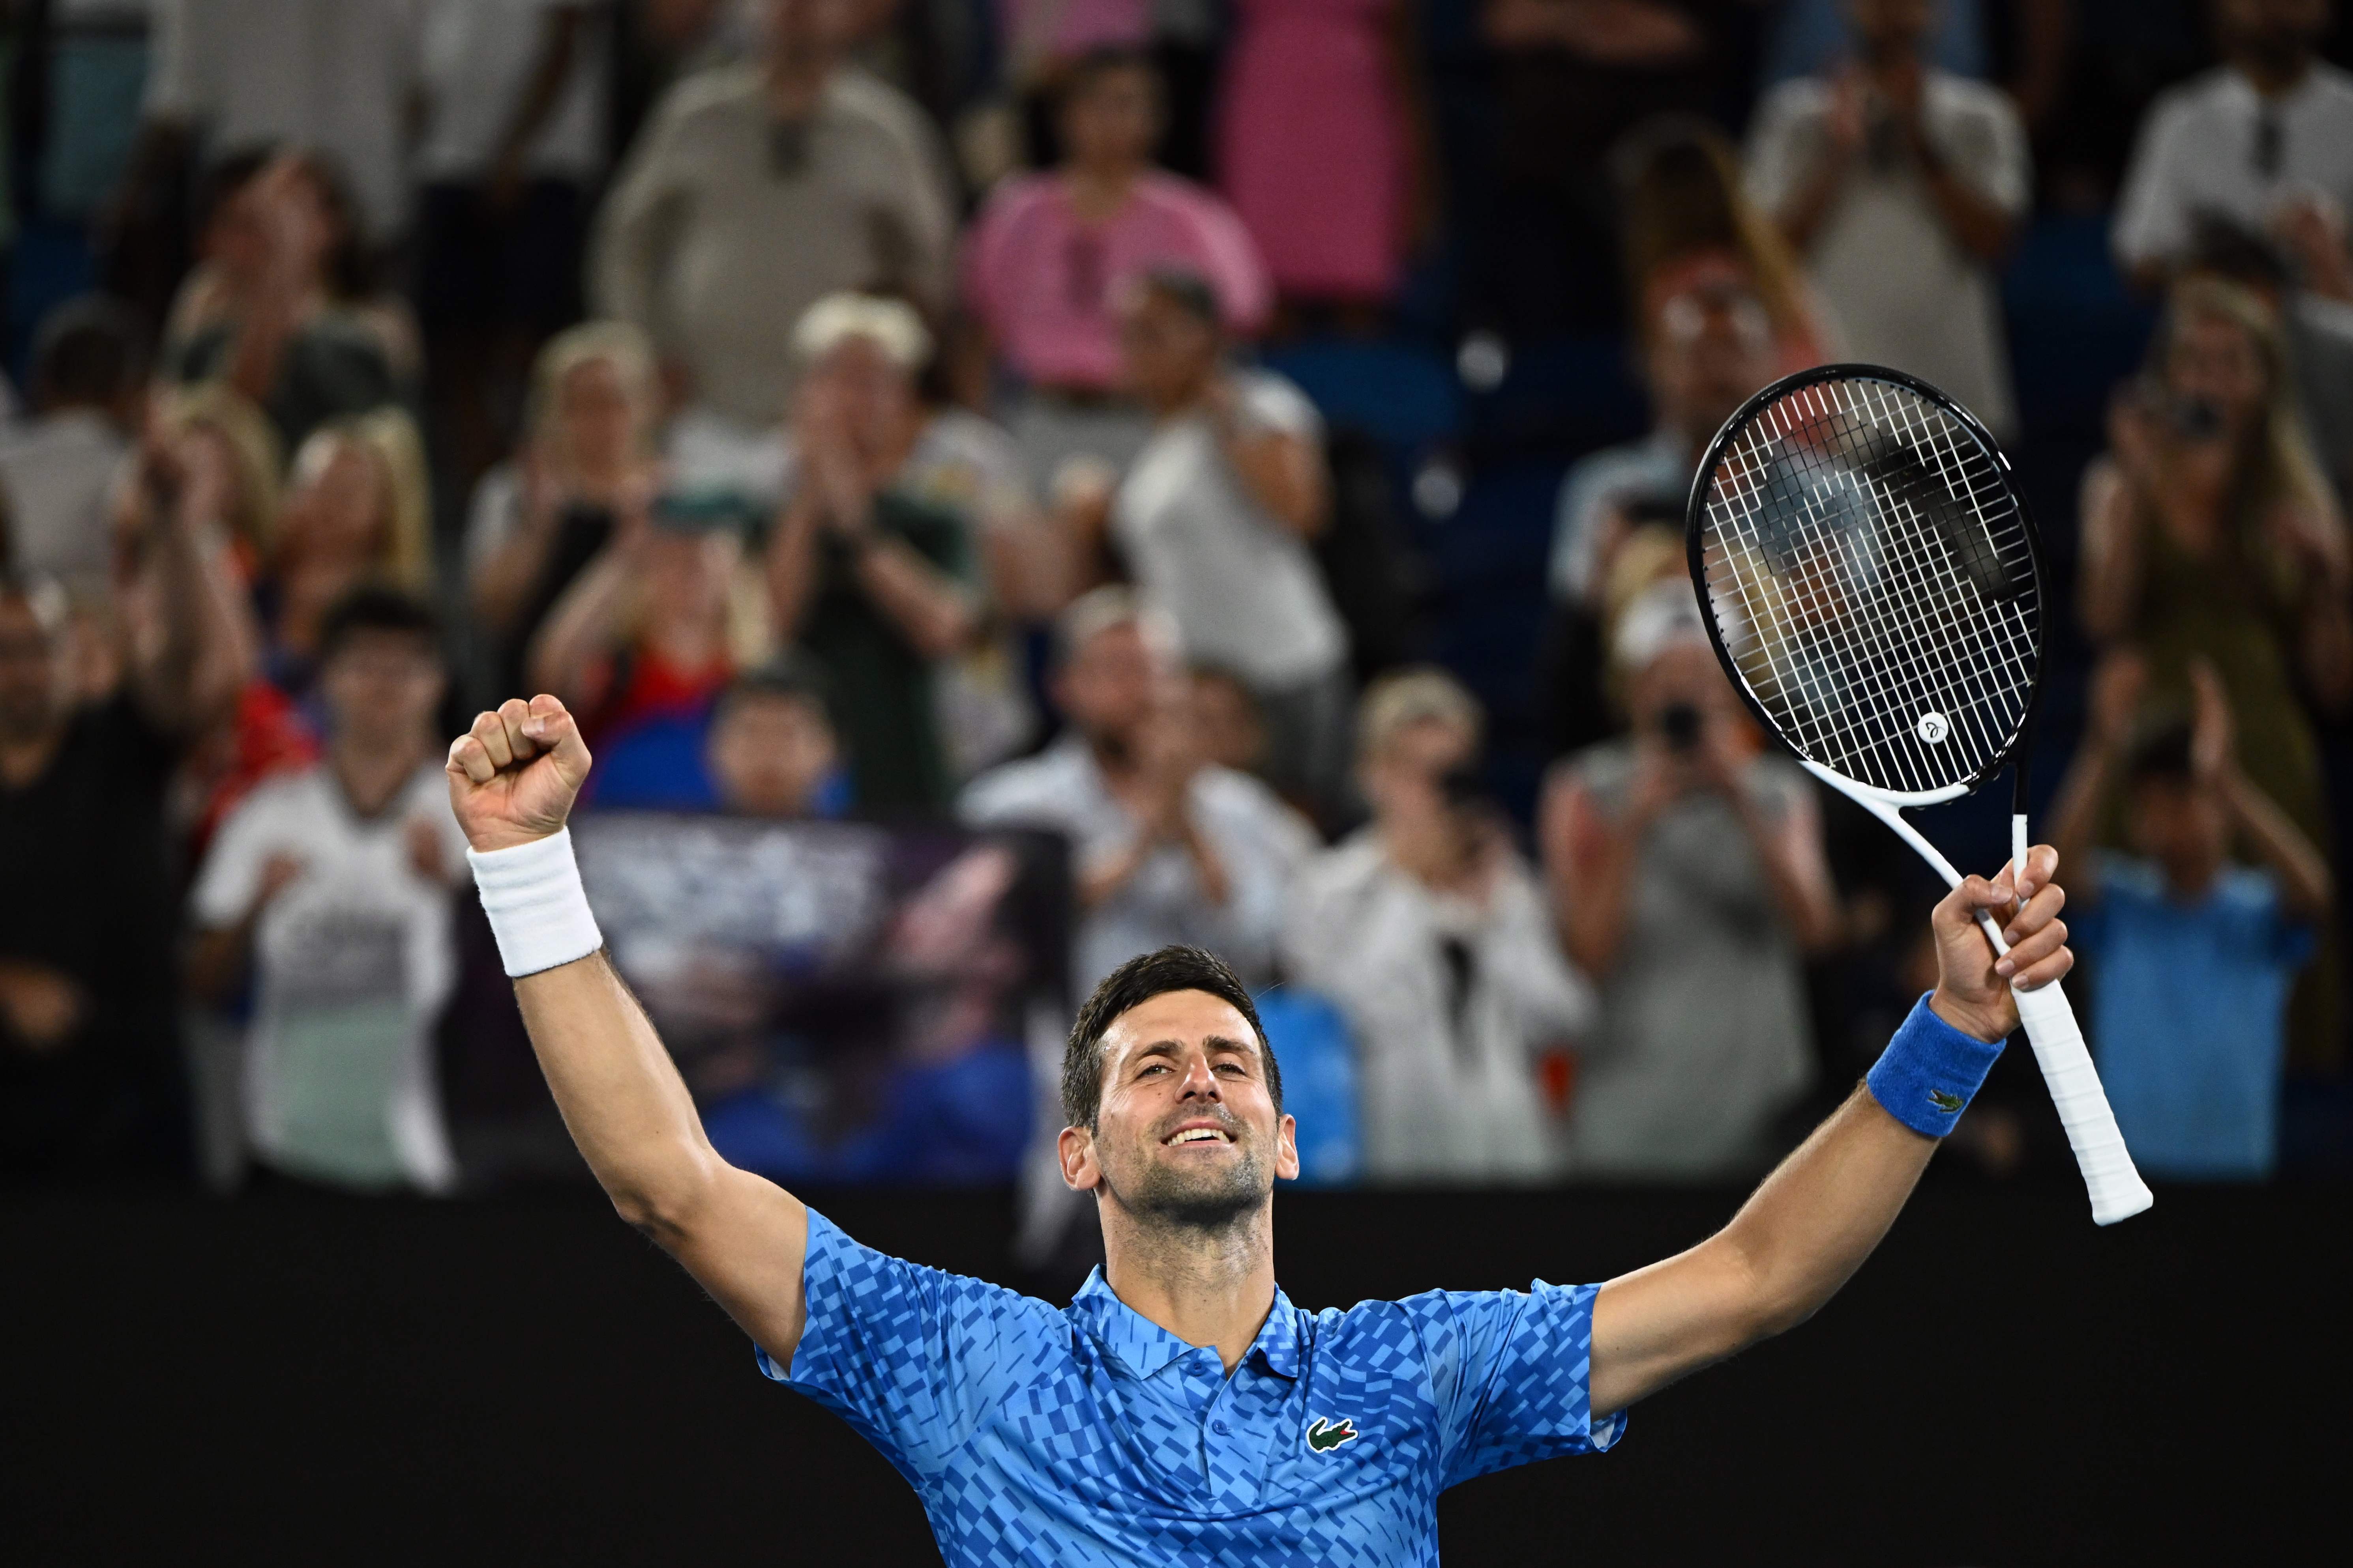
[[[2040,602],[1993,454],[1887,381],[1798,388],[1722,449],[1701,557],[1751,696],[1802,755],[1899,792],[1993,766],[2033,693]]]

